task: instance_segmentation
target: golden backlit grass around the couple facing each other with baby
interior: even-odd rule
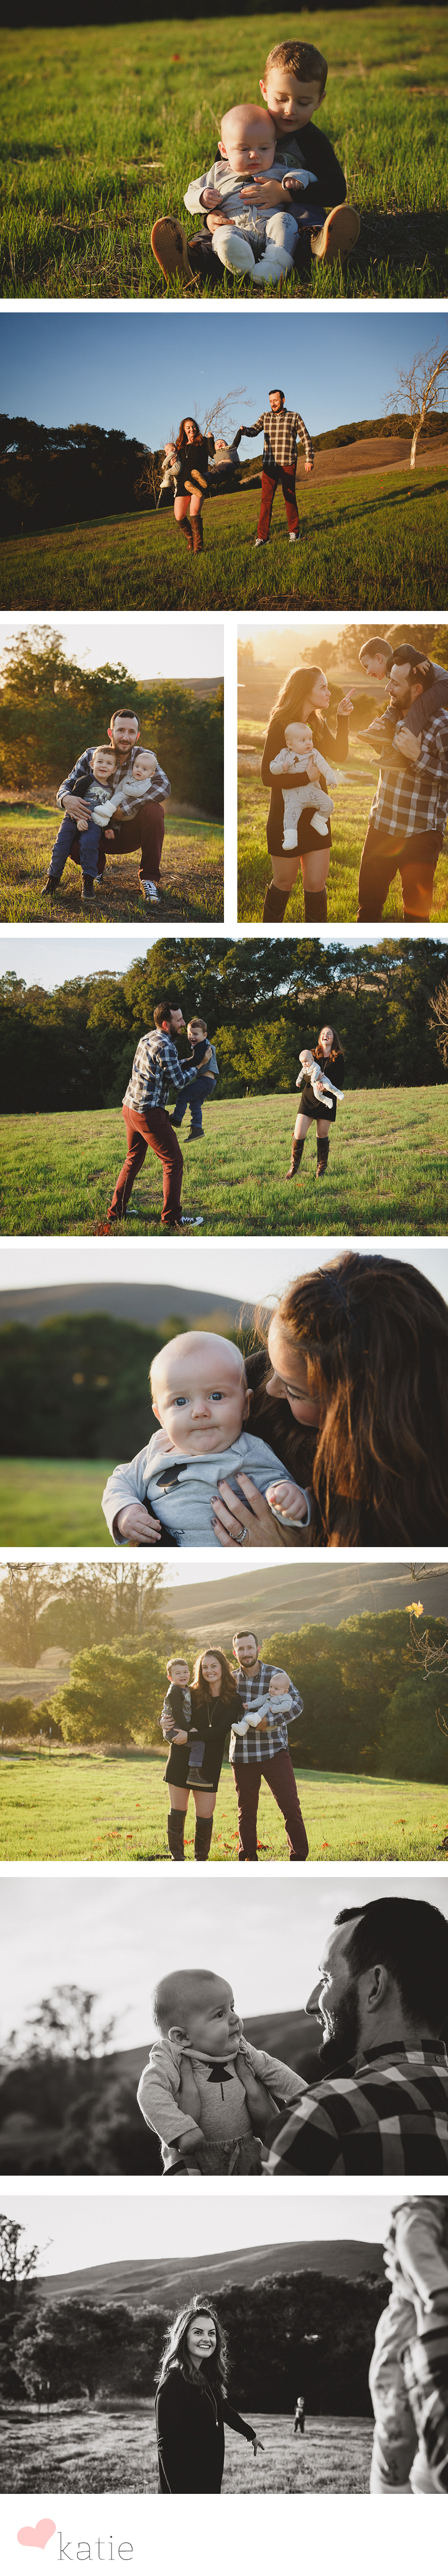
[[[265,724],[242,726],[242,760],[245,760],[245,734],[250,742],[265,739]],[[255,760],[255,755],[250,755]],[[327,876],[327,917],[330,922],[355,922],[358,912],[358,873],[360,850],[366,840],[368,809],[376,791],[378,770],[373,762],[363,765],[363,752],[353,750],[345,770],[337,773],[340,786],[335,788],[335,814],[332,814],[332,853]],[[265,822],[268,822],[268,788],[260,783],[257,762],[250,770],[239,770],[239,824],[237,824],[237,917],[239,922],[260,922],[265,886],[270,884],[270,858],[265,848]],[[384,922],[402,922],[402,881],[399,873],[389,886],[384,904]],[[448,842],[438,858],[435,884],[433,884],[433,922],[448,920]],[[304,884],[301,868],[296,886],[288,896],[286,922],[304,922]]]

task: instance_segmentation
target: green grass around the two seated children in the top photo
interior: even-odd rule
[[[330,62],[317,124],[360,209],[345,270],[306,263],[288,296],[443,296],[448,255],[443,8],[160,18],[3,39],[3,296],[165,296],[157,214],[214,162],[219,121],[255,98],[270,44]],[[198,219],[185,216],[185,232]],[[242,289],[237,289],[239,294]],[[178,294],[178,289],[175,289]],[[234,296],[216,263],[214,299]]]

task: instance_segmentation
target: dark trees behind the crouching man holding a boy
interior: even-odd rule
[[[149,652],[152,659],[152,652]],[[224,688],[198,698],[178,680],[134,680],[124,662],[88,672],[62,636],[15,636],[0,690],[0,791],[57,796],[90,742],[106,742],[116,706],[134,706],[180,804],[224,811]]]

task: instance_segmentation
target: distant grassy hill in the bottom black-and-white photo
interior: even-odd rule
[[[324,2272],[330,2277],[358,2280],[360,2272],[384,2272],[384,2246],[368,2244],[363,2239],[340,2236],[327,2241],[324,2236],[314,2244],[260,2244],[250,2249],[237,2249],[234,2254],[196,2254],[193,2262],[111,2262],[90,2264],[85,2272],[57,2272],[36,2282],[41,2298],[93,2298],[95,2306],[106,2306],[111,2298],[129,2300],[131,2308],[173,2308],[178,2300],[191,2298],[193,2290],[214,2295],[245,2282],[247,2290],[260,2280],[273,2280],[275,2272]]]

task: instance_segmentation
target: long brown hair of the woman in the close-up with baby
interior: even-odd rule
[[[448,1540],[448,1306],[412,1262],[342,1252],[286,1288],[275,1319],[306,1347],[322,1430],[324,1540]]]

